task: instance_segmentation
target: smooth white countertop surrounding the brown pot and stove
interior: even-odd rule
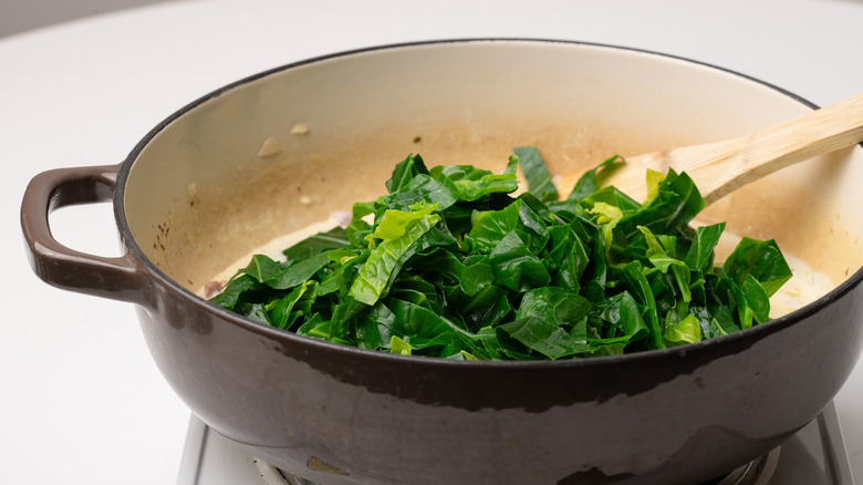
[[[819,105],[863,90],[863,2],[852,0],[201,0],[0,39],[0,483],[175,483],[189,417],[132,306],[53,289],[30,271],[19,207],[33,175],[121,162],[177,109],[269,68],[476,37],[654,50]],[[108,204],[61,210],[52,226],[76,249],[118,252]],[[863,479],[863,362],[835,403]]]

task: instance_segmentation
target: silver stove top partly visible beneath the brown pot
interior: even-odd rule
[[[724,477],[698,485],[853,485],[833,403],[784,444]],[[283,473],[189,420],[177,485],[323,485]]]

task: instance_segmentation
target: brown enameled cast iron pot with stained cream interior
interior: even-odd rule
[[[860,147],[773,174],[706,213],[729,231],[776,238],[834,287],[786,317],[697,344],[555,362],[402,357],[262,327],[199,292],[268,240],[379,195],[412,152],[432,165],[500,169],[511,147],[537,145],[553,173],[565,173],[812,107],[721,69],[607,45],[366,49],[218,90],[156,126],[119,165],[43,173],[21,220],[41,278],[135,303],[153,358],[191,411],[298,476],[692,484],[779,445],[857,361]],[[113,200],[124,256],[52,238],[52,209],[102,200]]]

